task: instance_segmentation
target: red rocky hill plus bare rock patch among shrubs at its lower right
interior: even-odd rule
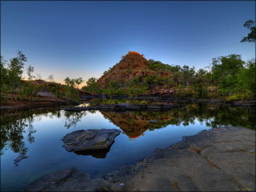
[[[149,76],[158,76],[158,77],[172,77],[172,73],[168,71],[155,70],[152,68],[152,63],[150,63],[143,55],[138,52],[131,51],[122,57],[122,60],[119,63],[115,64],[108,71],[104,72],[104,75],[98,79],[98,84],[102,88],[106,88],[110,81],[119,82],[123,88],[127,88],[133,82],[133,79],[136,77],[137,82],[143,84],[143,80]],[[161,86],[148,87],[148,93],[157,93],[157,92],[170,93],[173,91],[168,90],[167,84],[164,82]]]

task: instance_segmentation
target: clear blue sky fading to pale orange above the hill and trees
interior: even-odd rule
[[[1,1],[1,55],[20,50],[25,68],[57,82],[99,78],[128,51],[199,69],[229,54],[255,58],[255,43],[240,43],[249,19],[255,1]]]

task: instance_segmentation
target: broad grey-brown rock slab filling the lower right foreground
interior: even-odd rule
[[[42,176],[25,191],[255,191],[255,131],[201,131],[102,178],[63,169]]]

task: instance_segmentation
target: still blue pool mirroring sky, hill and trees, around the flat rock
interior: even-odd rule
[[[157,123],[149,122],[157,120]],[[190,104],[170,111],[84,111],[70,113],[39,108],[1,113],[1,191],[23,191],[25,185],[59,169],[75,167],[98,178],[135,164],[204,129],[219,126],[255,129],[255,111],[223,105]],[[61,139],[80,129],[120,129],[107,155],[76,155]],[[27,155],[14,164],[20,154]]]

